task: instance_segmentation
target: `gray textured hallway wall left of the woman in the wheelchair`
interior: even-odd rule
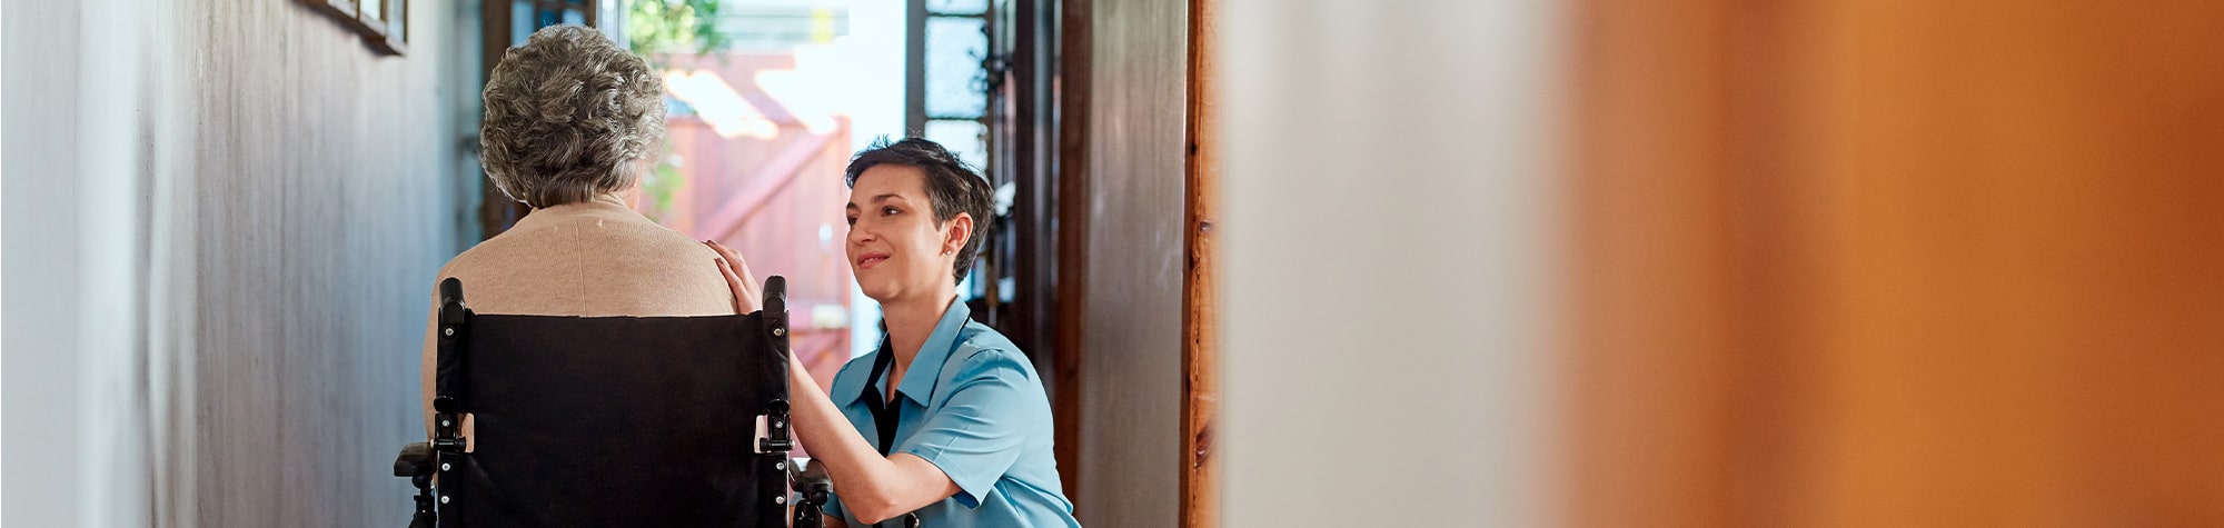
[[[4,4],[7,526],[398,526],[476,2]],[[458,75],[469,71],[469,75]]]

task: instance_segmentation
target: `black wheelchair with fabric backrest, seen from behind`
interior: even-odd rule
[[[763,306],[478,315],[440,282],[434,435],[394,461],[416,486],[409,526],[816,528],[830,484],[787,457],[783,277]]]

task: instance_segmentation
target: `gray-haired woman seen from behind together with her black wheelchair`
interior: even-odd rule
[[[787,521],[778,280],[736,297],[741,262],[627,206],[663,124],[658,73],[594,29],[540,29],[489,75],[487,177],[532,213],[440,268],[431,441],[396,461],[414,524]]]

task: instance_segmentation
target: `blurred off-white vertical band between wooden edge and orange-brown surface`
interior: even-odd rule
[[[1548,0],[1225,0],[1228,526],[1548,526]]]

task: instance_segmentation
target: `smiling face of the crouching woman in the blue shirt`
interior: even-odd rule
[[[856,286],[881,304],[941,299],[956,291],[956,253],[972,233],[972,215],[934,222],[927,173],[919,166],[876,164],[850,186],[850,271]]]

